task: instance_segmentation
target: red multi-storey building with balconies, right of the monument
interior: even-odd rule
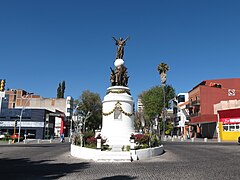
[[[214,138],[218,121],[214,104],[240,99],[240,78],[205,80],[188,93],[191,136]]]

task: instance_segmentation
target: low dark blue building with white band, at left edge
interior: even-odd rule
[[[49,139],[54,136],[55,117],[46,109],[8,108],[9,96],[2,101],[0,131],[10,135],[19,133],[31,138]],[[21,122],[21,128],[20,127]]]

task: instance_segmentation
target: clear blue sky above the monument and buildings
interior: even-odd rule
[[[6,87],[56,97],[90,90],[104,97],[116,45],[126,38],[124,60],[136,101],[159,85],[188,92],[205,79],[240,74],[240,1],[237,0],[9,0],[0,2],[0,79]]]

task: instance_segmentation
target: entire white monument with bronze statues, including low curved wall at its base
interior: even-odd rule
[[[71,144],[71,155],[97,162],[130,162],[148,159],[163,153],[163,146],[135,150],[135,143],[131,134],[134,130],[134,101],[128,88],[127,68],[123,59],[126,41],[122,38],[116,41],[117,54],[114,69],[111,69],[110,87],[102,102],[102,138],[111,149],[100,150],[101,140],[97,149],[80,147]],[[126,148],[130,147],[130,150]],[[124,147],[124,148],[123,148]]]

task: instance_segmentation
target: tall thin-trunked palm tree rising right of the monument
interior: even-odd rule
[[[160,63],[158,65],[158,72],[161,76],[161,81],[162,81],[162,88],[163,88],[163,112],[162,112],[162,119],[163,119],[163,132],[162,132],[162,137],[165,137],[165,123],[166,123],[166,106],[165,106],[165,85],[167,81],[167,71],[169,70],[169,66],[166,63]],[[159,130],[160,131],[160,130]],[[159,132],[160,134],[160,132]]]

